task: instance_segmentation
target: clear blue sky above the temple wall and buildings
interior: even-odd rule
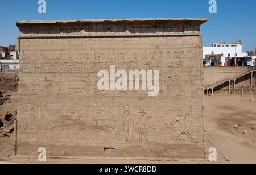
[[[47,13],[38,13],[38,0],[0,0],[0,45],[16,44],[17,20],[109,18],[208,18],[203,24],[203,46],[234,42],[243,50],[256,45],[256,1],[217,0],[217,14],[210,14],[209,0],[46,0]]]

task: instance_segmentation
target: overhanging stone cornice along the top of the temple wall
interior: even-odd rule
[[[20,38],[199,35],[206,18],[19,21]]]

